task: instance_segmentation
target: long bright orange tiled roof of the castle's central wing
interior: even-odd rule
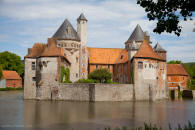
[[[115,64],[122,48],[87,48],[89,64]]]

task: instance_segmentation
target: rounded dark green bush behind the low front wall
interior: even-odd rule
[[[106,83],[112,78],[112,74],[108,69],[96,69],[93,72],[89,73],[89,79],[93,79],[95,83]]]

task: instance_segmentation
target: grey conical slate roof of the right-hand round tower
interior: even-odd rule
[[[133,42],[133,41],[139,42],[143,40],[144,40],[144,32],[138,24],[126,43]]]

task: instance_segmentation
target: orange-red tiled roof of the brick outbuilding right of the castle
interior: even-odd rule
[[[188,72],[186,71],[183,64],[167,64],[167,75],[186,75],[188,76]]]

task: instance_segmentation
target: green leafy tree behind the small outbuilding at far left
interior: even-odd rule
[[[19,75],[23,75],[24,63],[20,56],[8,51],[0,53],[0,65],[3,70],[15,70]]]

